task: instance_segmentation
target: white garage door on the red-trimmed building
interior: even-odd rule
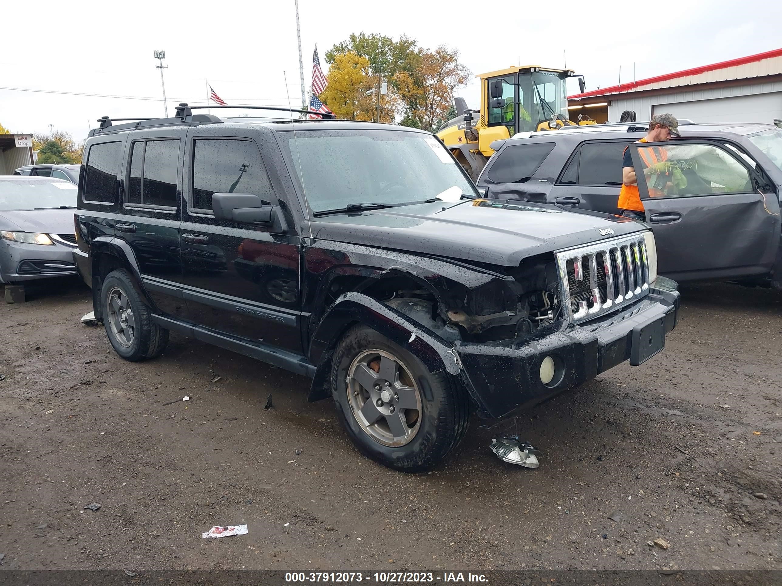
[[[782,119],[782,91],[770,94],[740,95],[733,98],[674,102],[652,106],[651,113],[670,113],[693,122],[762,122]]]

